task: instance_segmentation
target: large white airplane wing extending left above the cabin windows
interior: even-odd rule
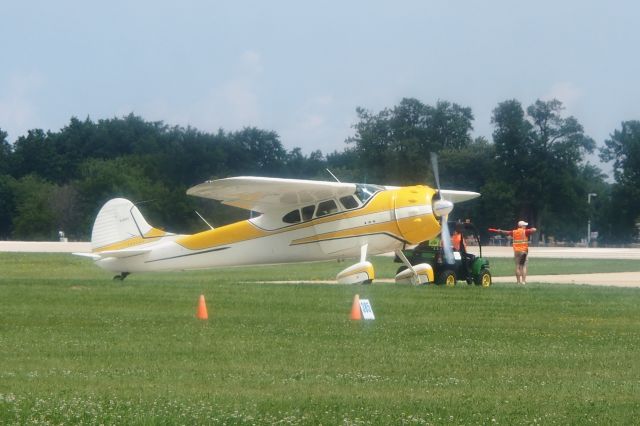
[[[350,195],[355,190],[353,183],[239,176],[201,183],[189,188],[187,194],[265,213],[274,208]]]

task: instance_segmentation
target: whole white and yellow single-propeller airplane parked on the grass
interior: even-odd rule
[[[401,249],[441,231],[443,241],[449,240],[446,216],[453,204],[480,195],[423,185],[250,176],[207,181],[187,194],[258,214],[197,234],[178,235],[152,227],[131,201],[115,198],[95,220],[92,253],[74,254],[93,258],[101,268],[118,273],[117,279],[134,272],[359,258],[337,275],[339,283],[355,284],[375,278],[368,255],[395,251],[408,266],[396,276],[397,282],[433,282],[431,267],[411,265]]]

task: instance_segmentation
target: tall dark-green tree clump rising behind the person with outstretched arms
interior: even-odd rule
[[[493,140],[517,217],[560,238],[576,238],[580,219],[587,216],[584,155],[593,152],[595,142],[561,111],[557,100],[538,100],[526,113],[516,100],[502,102],[493,112]]]

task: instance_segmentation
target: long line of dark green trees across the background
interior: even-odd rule
[[[482,193],[461,204],[457,218],[481,229],[508,228],[518,219],[535,224],[543,238],[579,241],[586,222],[601,243],[628,243],[640,221],[640,122],[612,129],[600,149],[613,161],[614,183],[585,158],[596,149],[557,100],[526,109],[517,100],[494,109],[493,140],[473,138],[470,108],[403,99],[379,112],[358,108],[354,134],[343,151],[305,155],[286,150],[270,130],[206,133],[149,122],[133,114],[94,122],[72,118],[58,132],[28,131],[14,143],[0,128],[0,239],[51,240],[59,230],[88,239],[97,210],[122,196],[148,201],[151,223],[194,232],[199,211],[221,224],[246,212],[187,197],[207,179],[257,175],[343,181],[433,185],[429,153],[440,156],[444,187]],[[597,198],[589,204],[588,194]]]

